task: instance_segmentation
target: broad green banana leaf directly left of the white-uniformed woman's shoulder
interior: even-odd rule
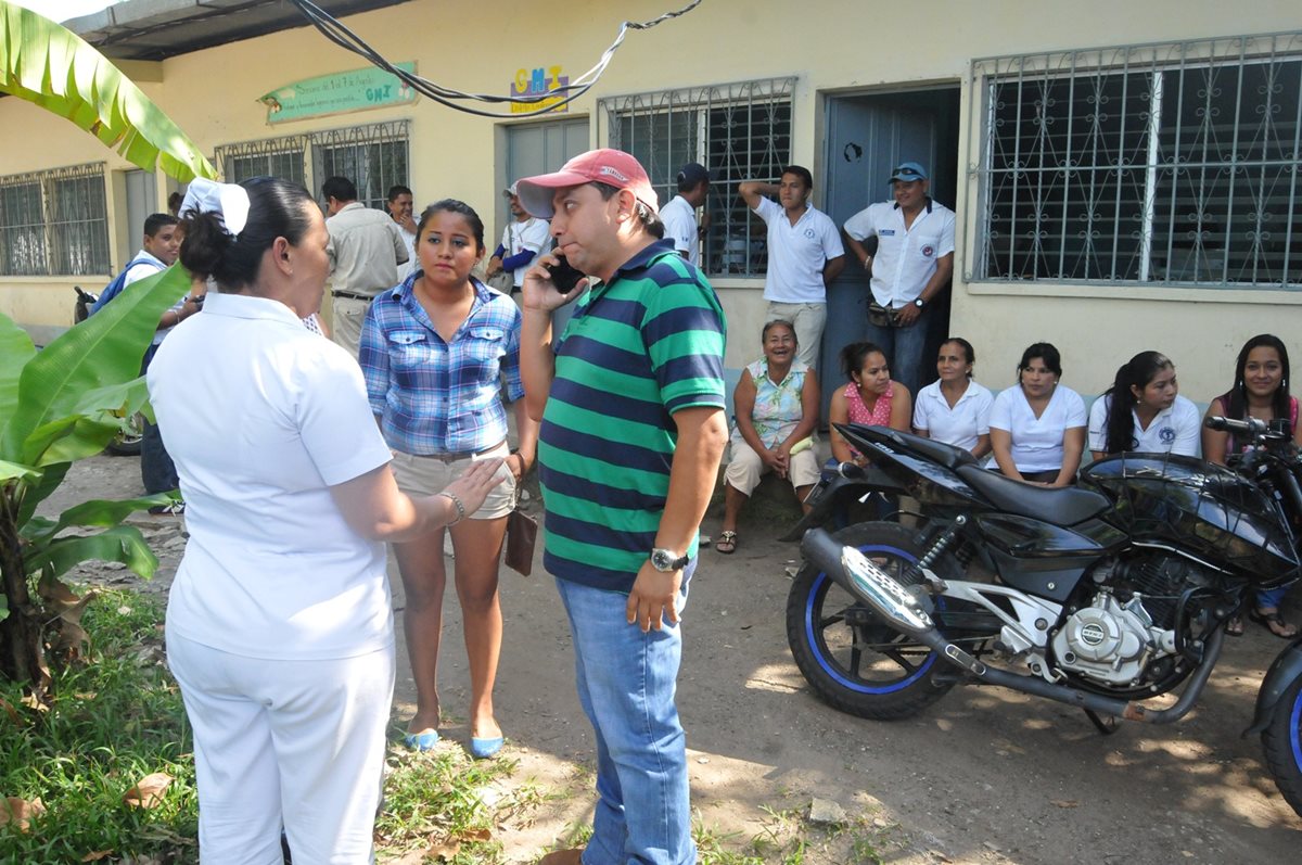
[[[23,363],[17,404],[0,430],[0,459],[31,466],[57,461],[44,459],[46,449],[59,440],[51,435],[51,425],[86,414],[89,392],[138,378],[141,358],[154,339],[159,318],[189,288],[190,275],[180,264],[133,283],[112,304],[61,333]],[[133,314],[135,310],[139,314]],[[3,354],[0,360],[9,362]],[[128,399],[121,408],[130,401]],[[98,442],[98,448],[103,448],[115,429],[89,418],[78,427],[79,447],[85,451]]]

